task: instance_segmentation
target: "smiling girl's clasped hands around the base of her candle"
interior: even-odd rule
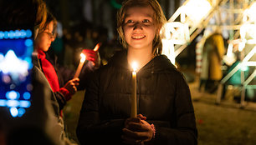
[[[146,117],[143,117],[141,114],[137,117],[126,119],[122,136],[124,143],[144,144],[144,142],[151,141],[154,136],[154,130],[145,120]]]

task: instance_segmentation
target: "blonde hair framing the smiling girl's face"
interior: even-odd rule
[[[120,42],[122,43],[123,47],[127,48],[127,42],[125,41],[125,34],[123,30],[123,26],[125,23],[125,15],[129,8],[138,6],[151,6],[154,11],[154,20],[156,21],[157,32],[153,40],[152,53],[155,56],[159,55],[161,54],[162,50],[160,30],[164,23],[166,23],[166,17],[162,12],[160,4],[156,0],[126,0],[125,2],[123,2],[119,13],[117,13],[117,32],[119,33]]]

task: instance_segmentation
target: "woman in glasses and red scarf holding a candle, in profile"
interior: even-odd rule
[[[40,29],[38,32],[38,37],[35,40],[35,48],[38,52],[38,59],[40,61],[42,71],[47,78],[57,101],[59,102],[59,110],[62,110],[67,101],[74,95],[77,91],[77,86],[79,85],[79,78],[70,79],[64,84],[62,73],[58,73],[58,69],[54,62],[51,62],[49,56],[45,54],[51,46],[51,42],[54,41],[54,28],[56,28],[57,21],[51,13],[48,13],[46,23],[44,28]],[[69,71],[68,76],[72,78],[72,73]]]

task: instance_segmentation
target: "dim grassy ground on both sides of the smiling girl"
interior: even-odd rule
[[[215,94],[197,91],[197,81],[189,83],[198,129],[198,145],[255,145],[256,107],[248,102],[243,109],[230,97],[216,105]],[[230,90],[232,92],[232,90]],[[77,142],[75,128],[84,92],[77,92],[64,108],[69,137]]]

